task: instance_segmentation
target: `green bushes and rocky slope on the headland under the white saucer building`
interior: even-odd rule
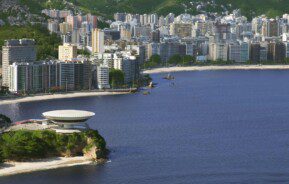
[[[96,130],[82,133],[57,134],[54,131],[7,132],[0,136],[0,161],[29,161],[33,159],[82,156],[106,159],[106,142]]]

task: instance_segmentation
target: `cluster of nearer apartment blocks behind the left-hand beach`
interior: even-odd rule
[[[139,78],[139,62],[130,53],[79,57],[77,46],[59,46],[58,60],[36,61],[34,40],[7,40],[2,47],[2,86],[11,92],[74,91],[110,88],[110,69],[122,70],[125,84]]]

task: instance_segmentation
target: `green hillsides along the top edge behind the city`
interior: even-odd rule
[[[19,0],[27,5],[31,12],[40,13],[44,8],[64,8],[65,2],[73,3],[85,12],[91,12],[105,17],[112,17],[116,12],[130,13],[159,13],[166,15],[170,12],[180,14],[185,12],[184,4],[188,13],[199,13],[196,3],[207,3],[206,0]],[[213,0],[212,0],[213,1]],[[209,2],[212,2],[209,1]],[[191,5],[193,2],[194,5]],[[251,17],[267,14],[270,17],[281,16],[289,12],[288,0],[215,0],[217,6],[207,6],[203,10],[220,12],[221,5],[229,7],[229,10],[240,8],[244,15]],[[228,6],[229,4],[232,5]]]

